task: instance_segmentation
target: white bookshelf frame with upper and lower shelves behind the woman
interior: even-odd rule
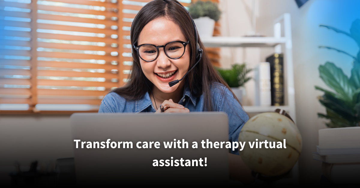
[[[282,14],[274,20],[273,37],[223,37],[202,38],[206,47],[266,47],[274,48],[275,52],[284,53],[284,103],[285,106],[243,106],[246,112],[273,112],[276,108],[284,109],[296,123],[295,90],[292,55],[291,17],[289,13]],[[283,36],[282,36],[283,30]],[[284,50],[282,50],[284,46]],[[291,177],[278,181],[280,184],[298,184],[298,163],[293,167]]]

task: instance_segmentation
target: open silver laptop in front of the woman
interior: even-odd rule
[[[204,185],[229,179],[229,149],[225,144],[213,146],[229,141],[228,117],[223,112],[75,113],[70,120],[73,140],[80,140],[73,142],[78,185]],[[209,148],[202,148],[202,140],[207,139],[204,146]]]

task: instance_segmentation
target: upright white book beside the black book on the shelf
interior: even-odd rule
[[[271,105],[270,63],[261,62],[255,68],[255,105]]]

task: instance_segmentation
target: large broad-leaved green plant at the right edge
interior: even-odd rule
[[[350,33],[330,26],[320,26],[351,37],[360,47],[360,19],[352,23]],[[353,67],[349,78],[334,63],[327,62],[319,66],[320,78],[334,91],[315,86],[315,89],[324,91],[324,95],[319,96],[318,99],[326,108],[326,114],[318,113],[318,117],[330,120],[326,123],[330,128],[360,126],[360,51],[353,56],[329,46],[319,46],[319,48],[332,49],[349,55],[353,58]]]

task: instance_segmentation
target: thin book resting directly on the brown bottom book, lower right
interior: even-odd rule
[[[327,163],[360,163],[360,154],[323,156],[318,152],[312,152],[312,159]]]

